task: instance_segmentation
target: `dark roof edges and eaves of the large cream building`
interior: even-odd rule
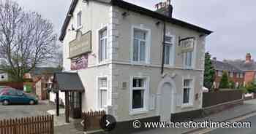
[[[190,23],[186,23],[184,21],[175,19],[173,17],[167,17],[165,15],[162,15],[159,12],[154,12],[154,11],[151,11],[150,9],[139,7],[135,4],[131,4],[131,3],[128,3],[128,2],[123,1],[123,0],[110,0],[110,1],[97,0],[97,1],[110,3],[114,6],[121,7],[123,9],[128,9],[128,10],[131,10],[132,12],[138,12],[138,13],[143,14],[143,15],[148,15],[150,17],[154,17],[154,18],[159,19],[159,20],[164,20],[164,21],[167,21],[168,23],[173,23],[175,25],[180,25],[184,28],[190,28],[192,30],[199,31],[199,32],[202,32],[202,33],[206,33],[206,34],[211,34],[212,33],[212,31],[209,31],[205,28],[200,28],[197,25],[192,25]],[[74,9],[76,7],[76,4],[78,4],[78,0],[72,0],[71,6],[69,7],[69,11],[67,12],[66,18],[64,20],[64,24],[61,28],[61,36],[59,36],[60,41],[63,41],[63,39],[66,35],[67,25],[69,24],[69,21],[72,17],[70,15],[73,14]]]

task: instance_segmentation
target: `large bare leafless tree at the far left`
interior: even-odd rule
[[[53,24],[37,12],[26,12],[14,1],[0,1],[0,58],[2,71],[15,81],[56,55]]]

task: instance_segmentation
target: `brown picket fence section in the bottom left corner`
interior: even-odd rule
[[[0,134],[53,134],[53,116],[0,120]]]

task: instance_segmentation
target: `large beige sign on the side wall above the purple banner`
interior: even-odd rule
[[[82,35],[78,31],[76,39],[69,43],[69,58],[91,52],[91,31]]]

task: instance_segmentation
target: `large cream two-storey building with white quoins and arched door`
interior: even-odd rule
[[[66,76],[78,74],[83,84],[83,111],[104,109],[117,122],[129,122],[168,121],[202,108],[211,31],[173,18],[170,1],[156,8],[72,1],[59,40]]]

